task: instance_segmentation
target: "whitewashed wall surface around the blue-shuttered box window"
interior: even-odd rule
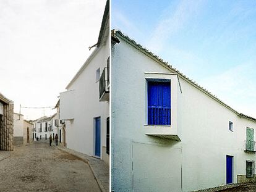
[[[122,40],[113,50],[114,191],[193,191],[226,185],[226,155],[234,156],[233,182],[237,174],[245,175],[245,161],[256,161],[255,154],[244,152],[246,127],[256,129],[255,122],[239,118],[180,78],[176,118],[181,141],[145,135],[145,72],[170,71]]]

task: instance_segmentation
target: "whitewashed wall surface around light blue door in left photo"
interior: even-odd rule
[[[109,103],[99,101],[99,81],[96,81],[96,70],[100,68],[100,74],[103,72],[104,67],[107,67],[108,57],[109,41],[107,40],[106,44],[100,47],[92,61],[67,89],[67,91],[74,90],[72,98],[66,99],[64,93],[61,94],[60,100],[60,118],[66,119],[67,148],[93,156],[95,148],[94,118],[101,117],[101,159],[103,159],[103,146],[106,147],[106,119],[109,117]],[[62,99],[63,95],[64,99]],[[66,109],[69,108],[73,110],[67,114]]]

